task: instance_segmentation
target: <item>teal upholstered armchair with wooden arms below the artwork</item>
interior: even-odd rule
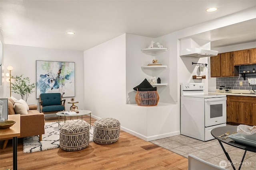
[[[39,100],[40,112],[56,113],[65,110],[66,100],[62,100],[60,93],[42,93]]]

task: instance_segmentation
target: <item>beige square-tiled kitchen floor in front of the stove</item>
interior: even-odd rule
[[[218,166],[220,161],[225,160],[227,163],[226,169],[233,170],[217,139],[204,142],[184,135],[176,135],[150,142],[186,158],[188,158],[188,154],[192,154]],[[236,169],[238,169],[244,150],[226,144],[223,144],[223,146],[234,162]],[[241,170],[256,170],[256,153],[250,151],[246,152]]]

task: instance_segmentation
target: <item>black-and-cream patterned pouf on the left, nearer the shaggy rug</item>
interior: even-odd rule
[[[65,123],[60,127],[60,148],[67,151],[76,151],[88,147],[89,130],[89,123],[84,121]]]

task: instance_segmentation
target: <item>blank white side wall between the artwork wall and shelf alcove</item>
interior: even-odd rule
[[[84,106],[94,117],[126,114],[125,34],[84,51]]]

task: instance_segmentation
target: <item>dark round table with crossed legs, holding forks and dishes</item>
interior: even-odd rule
[[[228,158],[228,160],[229,160],[229,162],[232,165],[234,170],[236,170],[236,168],[234,167],[234,164],[232,163],[232,160],[231,160],[230,156],[228,155],[228,152],[226,152],[225,148],[223,147],[222,143],[226,143],[227,145],[230,145],[232,147],[236,147],[236,148],[244,150],[244,156],[243,156],[243,158],[242,158],[242,160],[240,162],[240,166],[239,166],[239,169],[238,169],[238,170],[240,170],[240,168],[242,166],[242,163],[244,161],[244,157],[246,155],[246,152],[247,151],[256,152],[256,147],[251,146],[251,145],[246,145],[244,143],[239,143],[239,142],[234,141],[233,139],[230,139],[230,138],[222,139],[222,138],[224,138],[226,136],[218,138],[218,136],[220,136],[222,134],[225,134],[227,131],[230,131],[230,134],[232,134],[233,132],[237,131],[237,126],[231,126],[230,125],[230,126],[216,127],[214,129],[212,129],[211,134],[220,143],[220,146],[222,147],[222,150],[224,151],[226,157]]]

